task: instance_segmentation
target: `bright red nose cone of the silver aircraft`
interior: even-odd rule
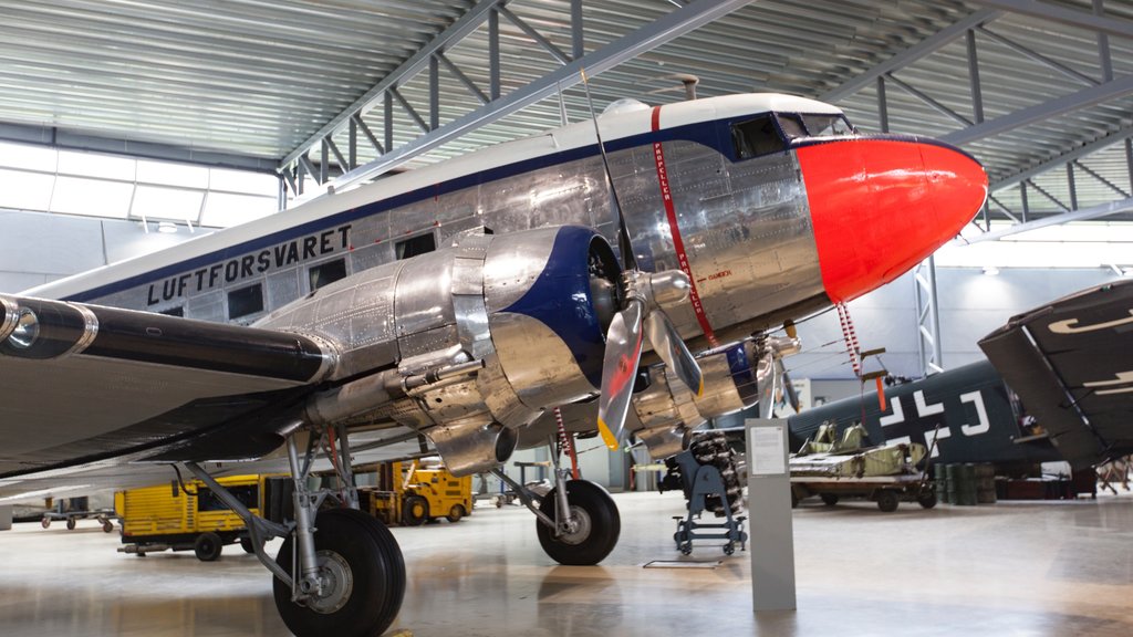
[[[988,178],[966,153],[922,138],[854,138],[796,150],[835,303],[896,279],[983,205]]]

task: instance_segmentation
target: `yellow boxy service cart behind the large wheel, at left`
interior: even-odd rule
[[[253,513],[282,520],[293,509],[295,485],[287,476],[227,476],[216,482],[227,487]],[[248,530],[236,513],[201,481],[182,485],[177,481],[114,493],[114,510],[122,520],[122,544],[118,550],[145,557],[165,550],[189,551],[211,562],[225,544],[240,543],[254,552]]]

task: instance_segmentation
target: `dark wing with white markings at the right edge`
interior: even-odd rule
[[[1133,452],[1133,281],[1020,314],[979,345],[1075,468]]]

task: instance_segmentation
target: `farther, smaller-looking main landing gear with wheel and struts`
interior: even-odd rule
[[[546,495],[540,496],[500,469],[492,473],[508,483],[535,513],[539,544],[551,559],[566,566],[593,566],[617,544],[622,529],[617,504],[605,489],[593,482],[568,481],[570,472],[560,469],[555,444],[552,436],[555,487]]]

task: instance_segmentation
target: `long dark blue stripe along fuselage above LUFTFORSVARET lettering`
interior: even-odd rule
[[[641,135],[634,135],[622,139],[612,139],[607,142],[605,146],[607,152],[616,152],[636,146],[651,145],[654,142],[670,142],[670,141],[681,139],[681,141],[695,142],[715,148],[717,152],[729,158],[729,160],[734,161],[735,158],[733,156],[734,153],[732,151],[732,145],[731,145],[732,142],[731,142],[731,134],[729,133],[730,130],[729,125],[733,121],[739,121],[748,117],[750,116],[732,117],[715,121],[702,121],[685,126],[679,126],[674,128],[661,129],[657,131],[644,133]],[[339,226],[356,221],[358,219],[364,219],[374,214],[380,214],[382,212],[409,205],[423,199],[428,199],[436,197],[438,195],[453,193],[471,186],[478,186],[499,179],[504,179],[506,177],[513,177],[516,175],[531,172],[535,170],[539,170],[542,168],[557,165],[570,161],[585,159],[589,156],[597,156],[597,155],[598,155],[598,145],[594,144],[590,146],[582,146],[579,148],[572,148],[568,151],[560,151],[557,153],[540,155],[537,158],[531,158],[529,160],[523,160],[516,163],[501,165],[480,172],[474,172],[471,175],[466,175],[463,177],[458,177],[455,179],[450,179],[448,181],[436,184],[435,186],[418,188],[416,190],[402,193],[400,195],[395,195],[386,199],[376,201],[359,207],[350,209],[343,212],[334,213],[329,216],[308,221],[307,223],[295,226],[286,230],[280,230],[279,232],[266,235],[264,237],[259,237],[250,241],[245,241],[242,244],[229,246],[224,249],[220,249],[214,253],[204,254],[187,261],[182,261],[156,270],[152,270],[144,274],[137,274],[128,279],[122,279],[119,281],[99,286],[97,288],[93,288],[66,297],[63,300],[91,301],[122,290],[128,290],[134,287],[143,286],[145,283],[161,281],[169,277],[182,274],[185,272],[191,272],[201,267],[207,267],[214,263],[223,263],[228,260],[242,256],[248,253],[254,253],[256,250],[270,246],[290,241],[298,237],[312,235],[321,230],[324,230],[326,228],[337,228]]]

